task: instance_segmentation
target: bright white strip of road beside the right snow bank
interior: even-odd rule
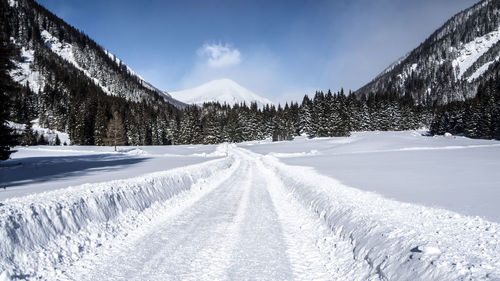
[[[336,237],[321,218],[302,207],[260,160],[257,165],[280,216],[296,280],[378,280],[369,276],[368,264],[354,259],[349,242]]]

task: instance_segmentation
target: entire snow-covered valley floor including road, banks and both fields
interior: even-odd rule
[[[421,133],[22,148],[0,168],[29,179],[0,190],[0,277],[499,280],[500,142]],[[30,175],[65,163],[84,168]]]

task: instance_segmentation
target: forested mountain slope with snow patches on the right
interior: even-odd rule
[[[421,104],[474,97],[500,70],[500,1],[483,0],[448,20],[419,47],[356,93],[409,93]]]

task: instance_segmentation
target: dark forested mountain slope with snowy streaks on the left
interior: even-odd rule
[[[14,64],[9,121],[38,119],[75,145],[111,144],[111,123],[126,135],[120,145],[173,142],[185,104],[35,1],[0,0],[0,43],[0,60]]]

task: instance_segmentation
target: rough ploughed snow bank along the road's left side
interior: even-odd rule
[[[121,235],[188,190],[229,175],[233,157],[149,175],[11,198],[0,203],[0,276],[46,278]],[[215,179],[215,180],[214,180]],[[202,186],[203,184],[203,186]],[[163,204],[163,207],[162,207]]]

